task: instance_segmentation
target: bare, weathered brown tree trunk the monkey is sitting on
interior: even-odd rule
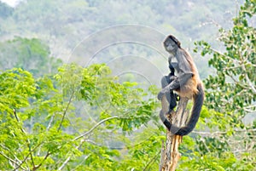
[[[182,127],[187,122],[189,117],[189,111],[186,110],[188,99],[181,98],[177,105],[177,111],[169,113],[168,120],[177,125],[177,127]],[[161,100],[162,110],[167,113],[169,111],[169,103],[164,96]],[[178,152],[178,146],[182,143],[183,137],[180,135],[172,134],[169,130],[166,133],[166,148],[164,143],[162,144],[161,159],[160,159],[160,171],[174,171],[177,167],[177,162],[181,157]]]

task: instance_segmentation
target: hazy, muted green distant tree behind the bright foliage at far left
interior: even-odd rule
[[[37,38],[15,37],[14,40],[0,43],[0,68],[13,67],[32,72],[35,77],[56,72],[61,60],[50,57],[49,47]]]

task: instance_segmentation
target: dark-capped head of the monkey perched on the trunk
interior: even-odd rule
[[[177,51],[177,48],[180,47],[181,43],[177,40],[176,37],[169,35],[166,37],[166,40],[164,41],[164,47],[166,48],[166,51],[170,54],[173,54]]]

